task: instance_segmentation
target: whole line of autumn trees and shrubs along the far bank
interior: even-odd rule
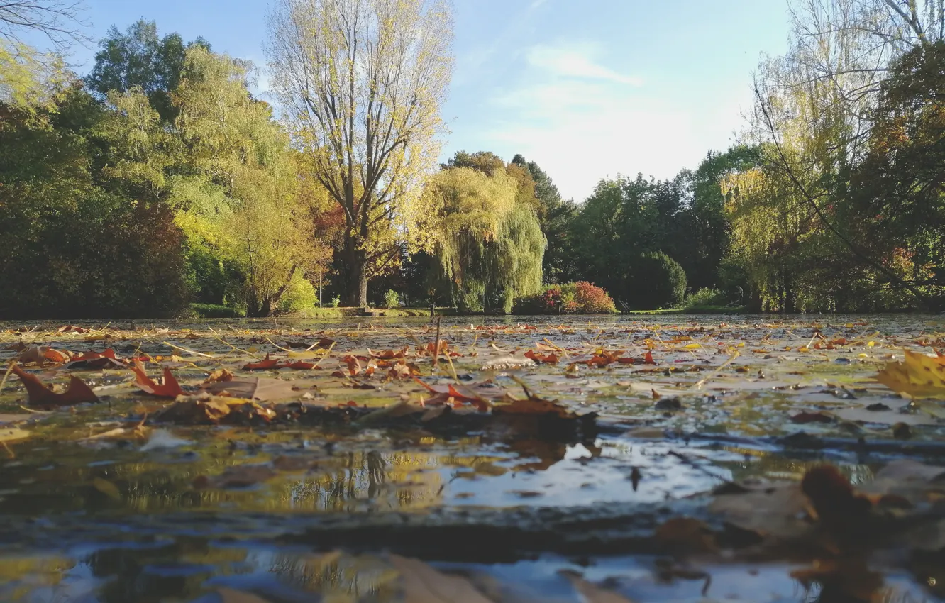
[[[50,13],[58,49],[78,35],[71,6]],[[942,2],[792,9],[737,145],[581,202],[522,155],[438,164],[452,73],[438,1],[280,0],[271,96],[249,61],[145,20],[112,27],[79,76],[0,13],[0,315],[267,316],[314,307],[318,285],[354,306],[395,291],[563,311],[562,291],[596,291],[584,282],[623,308],[939,308]]]

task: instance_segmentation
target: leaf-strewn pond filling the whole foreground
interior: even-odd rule
[[[7,322],[0,345],[55,389],[0,386],[0,600],[945,596],[945,392],[875,378],[936,360],[942,316]],[[57,397],[74,377],[94,400]],[[869,507],[850,529],[800,493],[824,463],[828,502]]]

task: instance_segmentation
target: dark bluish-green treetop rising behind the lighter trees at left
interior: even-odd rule
[[[157,24],[144,19],[131,24],[125,33],[112,26],[98,45],[101,49],[95,54],[86,85],[102,97],[139,88],[164,122],[177,116],[170,93],[180,82],[186,50],[194,45],[210,50],[210,43],[203,38],[191,43],[184,43],[177,33],[160,38]]]

